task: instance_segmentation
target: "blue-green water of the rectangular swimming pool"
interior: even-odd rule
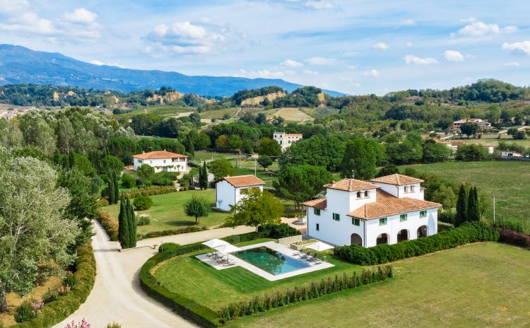
[[[304,269],[310,266],[300,259],[285,257],[283,254],[261,246],[234,253],[235,257],[269,272],[269,274],[285,274],[285,272]]]

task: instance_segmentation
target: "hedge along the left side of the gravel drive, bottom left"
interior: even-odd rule
[[[77,250],[76,272],[73,273],[73,276],[78,283],[71,291],[64,295],[57,295],[55,300],[47,303],[40,309],[40,313],[35,319],[15,324],[12,327],[52,327],[57,322],[61,322],[61,320],[64,320],[75,312],[81,304],[85,303],[95,281],[95,258],[90,241]]]

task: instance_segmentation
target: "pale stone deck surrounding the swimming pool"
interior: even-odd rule
[[[252,272],[253,274],[257,274],[258,276],[261,276],[269,281],[277,281],[285,278],[289,278],[292,276],[298,276],[299,274],[307,274],[308,272],[318,271],[322,269],[331,268],[334,266],[331,263],[328,262],[322,262],[321,264],[314,264],[314,262],[306,261],[305,259],[300,259],[298,256],[298,252],[296,250],[292,250],[289,247],[283,246],[278,244],[278,242],[261,242],[259,244],[249,245],[245,247],[240,247],[242,250],[250,250],[252,248],[257,247],[269,247],[271,250],[275,250],[276,252],[280,252],[285,257],[290,257],[292,259],[298,259],[299,261],[306,262],[309,264],[307,268],[298,269],[295,271],[285,272],[285,274],[269,274],[269,272],[259,269],[257,266],[254,266],[248,262],[243,261],[242,259],[239,259],[233,255],[229,255],[230,261],[232,261],[234,264],[227,265],[227,264],[220,264],[215,259],[211,259],[207,256],[207,254],[201,254],[197,255],[196,258],[200,259],[202,262],[205,262],[206,264],[210,264],[214,268],[218,270],[223,269],[230,269],[235,266],[241,266],[242,268],[247,269],[248,271]],[[223,255],[226,257],[226,255]]]

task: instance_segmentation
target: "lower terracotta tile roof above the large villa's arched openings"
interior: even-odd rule
[[[358,209],[348,213],[354,218],[370,220],[372,218],[385,218],[401,213],[420,211],[423,209],[434,209],[442,206],[432,201],[423,201],[413,198],[397,198],[382,190],[377,190],[377,201],[360,206]]]

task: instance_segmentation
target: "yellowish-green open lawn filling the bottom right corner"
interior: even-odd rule
[[[227,327],[526,327],[530,251],[495,242],[393,264],[384,283],[238,318]]]

